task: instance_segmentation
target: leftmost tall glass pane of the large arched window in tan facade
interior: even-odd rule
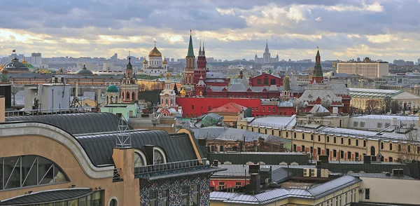
[[[16,165],[16,167],[15,167]],[[13,168],[15,170],[13,170]],[[13,173],[12,173],[13,171]],[[20,158],[4,158],[4,188],[20,187]]]

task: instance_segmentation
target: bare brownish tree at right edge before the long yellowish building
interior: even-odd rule
[[[411,130],[405,134],[398,145],[398,158],[403,162],[420,160],[420,131]]]

